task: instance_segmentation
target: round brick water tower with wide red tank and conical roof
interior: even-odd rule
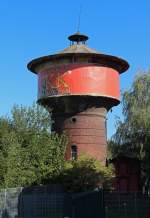
[[[120,74],[129,64],[86,45],[79,32],[63,51],[32,60],[38,76],[38,103],[52,111],[53,130],[67,134],[66,159],[81,154],[106,159],[106,114],[119,104]]]

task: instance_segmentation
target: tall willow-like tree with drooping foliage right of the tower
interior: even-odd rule
[[[133,154],[141,160],[143,181],[150,179],[150,72],[136,76],[130,90],[123,93],[124,120],[118,120],[112,154]],[[114,146],[112,146],[114,143]]]

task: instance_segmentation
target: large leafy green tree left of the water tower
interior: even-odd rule
[[[63,170],[66,137],[50,132],[49,117],[34,104],[0,119],[1,187],[44,184]]]

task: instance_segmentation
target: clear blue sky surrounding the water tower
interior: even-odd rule
[[[130,88],[137,71],[150,69],[149,0],[1,0],[0,115],[9,114],[13,104],[36,101],[37,78],[26,64],[69,45],[80,5],[80,31],[89,35],[89,47],[130,63],[120,78],[122,91]],[[108,114],[108,138],[121,111],[120,105]]]

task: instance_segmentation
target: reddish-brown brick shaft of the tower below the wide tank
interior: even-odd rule
[[[106,159],[106,109],[88,108],[83,112],[54,114],[53,129],[68,136],[66,159],[88,155],[101,162]],[[73,149],[76,147],[76,154]]]

